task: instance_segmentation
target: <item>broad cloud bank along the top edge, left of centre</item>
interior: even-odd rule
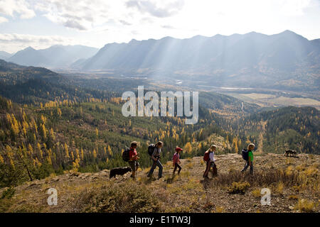
[[[183,8],[184,1],[41,0],[35,1],[34,9],[53,23],[90,31],[104,25],[139,26],[139,20],[146,17],[145,14],[151,18],[168,18]]]

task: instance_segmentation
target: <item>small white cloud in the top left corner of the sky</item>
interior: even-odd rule
[[[11,17],[14,17],[14,14],[17,13],[23,19],[36,16],[31,6],[24,0],[1,0],[0,13]]]

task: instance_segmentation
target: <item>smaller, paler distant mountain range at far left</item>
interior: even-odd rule
[[[28,47],[16,52],[6,60],[19,65],[65,68],[70,67],[77,60],[92,57],[97,50],[97,48],[84,45],[53,45],[50,48],[42,50]]]

